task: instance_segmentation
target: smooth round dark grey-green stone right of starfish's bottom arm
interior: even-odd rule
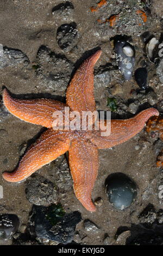
[[[116,209],[128,208],[137,196],[136,184],[126,174],[110,174],[105,185],[109,202]]]

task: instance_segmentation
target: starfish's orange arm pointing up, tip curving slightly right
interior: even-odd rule
[[[87,58],[74,74],[66,92],[66,102],[72,111],[95,111],[96,103],[93,87],[93,68],[101,50]]]

